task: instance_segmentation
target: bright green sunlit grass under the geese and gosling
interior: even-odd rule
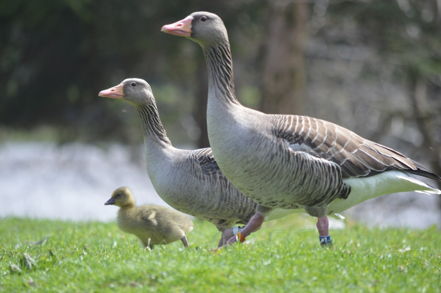
[[[220,234],[194,224],[189,249],[177,241],[148,251],[116,223],[0,219],[0,291],[441,292],[435,227],[348,222],[322,248],[312,218],[294,215],[265,223],[250,243],[211,252]],[[26,268],[24,253],[35,265]]]

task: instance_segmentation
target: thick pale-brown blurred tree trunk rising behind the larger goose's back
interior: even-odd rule
[[[307,4],[269,2],[269,18],[262,66],[262,111],[301,113],[306,89],[303,48],[306,43]],[[280,4],[280,5],[278,5]]]

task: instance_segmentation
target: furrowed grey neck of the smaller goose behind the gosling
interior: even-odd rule
[[[161,119],[159,119],[158,109],[156,104],[142,104],[136,105],[139,118],[141,118],[142,132],[144,134],[144,142],[157,142],[164,147],[172,146],[172,143],[165,133],[164,126],[162,126]]]

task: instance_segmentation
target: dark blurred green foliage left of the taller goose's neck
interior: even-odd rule
[[[80,134],[130,141],[121,104],[97,97],[130,77],[144,78],[156,89],[164,124],[179,124],[180,111],[191,112],[193,59],[202,52],[161,33],[161,26],[196,10],[219,11],[225,23],[237,22],[240,11],[253,13],[259,5],[248,2],[1,1],[1,125],[61,126],[67,133],[60,133],[62,141]]]

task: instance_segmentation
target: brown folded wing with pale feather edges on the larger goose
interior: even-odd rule
[[[387,170],[410,173],[441,181],[420,163],[383,145],[369,141],[334,123],[307,116],[273,115],[275,135],[294,151],[337,163],[343,178],[372,176]]]

